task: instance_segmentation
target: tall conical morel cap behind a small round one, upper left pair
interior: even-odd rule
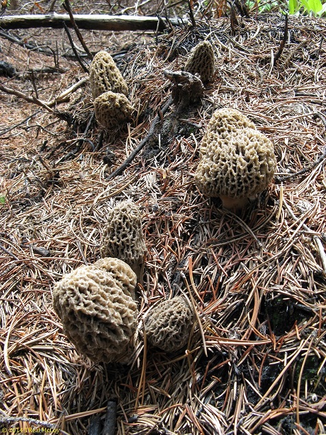
[[[90,91],[93,98],[108,91],[125,95],[128,93],[125,79],[107,51],[95,54],[90,64]]]

